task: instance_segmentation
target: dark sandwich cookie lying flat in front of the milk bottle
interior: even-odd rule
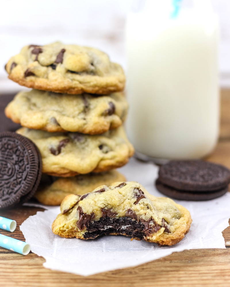
[[[159,169],[156,188],[180,200],[210,200],[228,191],[230,170],[202,160],[172,160]]]

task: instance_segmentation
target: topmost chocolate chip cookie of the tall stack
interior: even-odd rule
[[[61,42],[25,46],[5,69],[22,86],[57,93],[109,94],[125,84],[122,67],[105,53]]]

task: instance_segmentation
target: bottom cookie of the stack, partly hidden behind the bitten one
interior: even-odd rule
[[[99,185],[111,185],[115,181],[125,181],[123,174],[116,170],[76,175],[75,177],[51,177],[43,174],[34,197],[46,205],[60,205],[69,194],[83,195]]]

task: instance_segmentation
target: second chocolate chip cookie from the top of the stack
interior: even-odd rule
[[[5,114],[30,129],[100,134],[122,125],[127,110],[122,93],[93,96],[31,90],[18,93]]]

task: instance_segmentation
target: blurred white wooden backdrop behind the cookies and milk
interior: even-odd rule
[[[26,44],[97,47],[125,69],[124,27],[132,0],[0,0],[0,94],[21,88],[4,65]],[[230,1],[212,0],[221,23],[220,83],[230,87]]]

